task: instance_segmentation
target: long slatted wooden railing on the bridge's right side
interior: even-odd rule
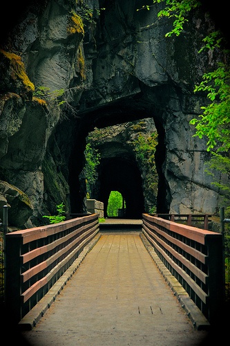
[[[142,234],[210,323],[224,300],[222,234],[143,214]]]

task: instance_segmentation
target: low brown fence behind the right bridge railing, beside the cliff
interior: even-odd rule
[[[209,214],[150,214],[151,216],[161,217],[162,219],[186,223],[188,226],[194,226],[192,224],[199,223],[204,225],[204,230],[209,229],[209,219],[213,215]]]

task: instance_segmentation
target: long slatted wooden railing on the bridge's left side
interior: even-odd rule
[[[6,307],[19,322],[99,231],[98,214],[6,235]]]

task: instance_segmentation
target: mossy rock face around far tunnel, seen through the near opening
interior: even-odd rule
[[[157,130],[153,118],[95,129],[87,141],[99,154],[97,179],[89,194],[105,201],[104,215],[107,216],[111,190],[119,191],[125,199],[126,217],[141,218],[142,212],[155,212],[158,176]]]

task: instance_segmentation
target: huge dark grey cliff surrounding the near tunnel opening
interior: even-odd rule
[[[198,54],[213,23],[200,10],[180,37],[166,38],[171,23],[157,19],[159,4],[137,8],[138,1],[128,0],[31,1],[1,42],[0,194],[13,211],[10,225],[38,226],[61,202],[66,212],[86,212],[81,172],[89,131],[146,118],[158,134],[157,212],[218,210],[222,192],[212,182],[222,177],[205,172],[205,142],[189,125],[206,102],[194,85],[217,60]],[[34,90],[46,97],[32,97]],[[120,165],[114,153],[108,167]],[[133,179],[149,205],[142,176],[135,181],[133,166],[123,167],[124,185]],[[107,181],[104,204],[110,169],[98,182],[103,191]],[[20,203],[8,197],[12,190]],[[18,212],[26,210],[20,221],[16,204]]]

